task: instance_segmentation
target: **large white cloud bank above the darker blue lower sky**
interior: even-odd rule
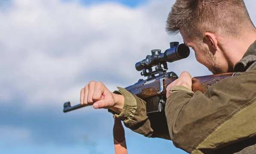
[[[254,2],[245,2],[253,14]],[[0,101],[19,95],[33,107],[78,103],[80,89],[100,72],[107,72],[100,79],[111,91],[135,83],[141,78],[134,67],[137,61],[154,48],[164,51],[170,41],[182,42],[165,32],[173,3],[152,0],[128,8],[117,3],[13,0],[10,9],[0,11]],[[193,56],[169,68],[192,76],[209,73]],[[126,82],[114,84],[116,75]]]

